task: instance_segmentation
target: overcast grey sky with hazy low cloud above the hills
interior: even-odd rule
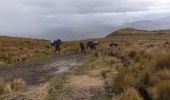
[[[170,16],[170,0],[0,0],[0,35],[82,39]]]

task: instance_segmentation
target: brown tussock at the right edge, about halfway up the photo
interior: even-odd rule
[[[161,54],[159,57],[157,57],[154,67],[156,69],[170,69],[170,54]]]

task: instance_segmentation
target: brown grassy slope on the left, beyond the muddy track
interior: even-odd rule
[[[63,42],[60,54],[78,52],[79,42]],[[54,55],[50,41],[0,36],[0,66],[32,61]]]

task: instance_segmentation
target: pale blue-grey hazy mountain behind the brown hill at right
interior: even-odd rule
[[[160,29],[170,29],[170,16],[155,20],[141,20],[132,23],[126,23],[120,28],[133,27],[143,30],[160,30]]]

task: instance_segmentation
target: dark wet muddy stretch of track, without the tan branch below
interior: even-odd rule
[[[28,85],[37,85],[48,81],[58,73],[67,71],[68,68],[82,63],[83,56],[80,54],[53,56],[36,63],[19,64],[7,68],[0,68],[0,78],[12,81],[21,78]]]

